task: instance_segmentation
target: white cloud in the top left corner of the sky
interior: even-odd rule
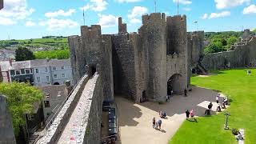
[[[26,0],[7,0],[4,5],[4,8],[0,10],[0,16],[10,18],[12,21],[25,19],[35,11],[26,6]]]

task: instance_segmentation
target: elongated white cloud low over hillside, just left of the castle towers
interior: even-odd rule
[[[78,22],[74,22],[70,19],[50,18],[46,21],[39,22],[39,26],[47,26],[47,30],[54,31],[62,30],[65,28],[74,28],[78,26]]]

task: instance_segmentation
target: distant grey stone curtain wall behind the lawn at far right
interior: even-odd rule
[[[234,50],[206,54],[201,63],[206,70],[245,67],[250,63],[255,66],[256,38],[251,38],[249,42],[236,45]]]

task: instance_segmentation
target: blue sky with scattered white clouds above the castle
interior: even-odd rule
[[[154,0],[4,0],[0,10],[0,39],[77,35],[83,25],[101,24],[103,34],[117,33],[117,18],[137,31],[142,14],[154,12]],[[177,14],[177,0],[156,0],[157,12]],[[256,28],[256,0],[179,0],[188,31],[224,31]]]

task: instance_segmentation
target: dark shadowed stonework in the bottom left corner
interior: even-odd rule
[[[0,143],[15,144],[14,128],[6,103],[6,97],[0,95]]]

